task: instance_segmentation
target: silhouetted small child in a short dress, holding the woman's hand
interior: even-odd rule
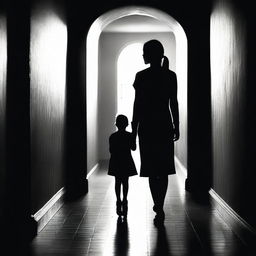
[[[137,175],[131,150],[136,150],[132,134],[126,131],[128,118],[125,115],[116,117],[117,132],[109,137],[109,168],[108,175],[115,176],[116,213],[119,216],[127,216],[129,176]],[[123,200],[121,201],[121,186],[123,188]]]

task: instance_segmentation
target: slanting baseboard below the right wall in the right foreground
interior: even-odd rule
[[[212,198],[212,206],[231,230],[244,242],[245,245],[251,245],[255,242],[256,230],[241,218],[213,189],[209,194]]]

